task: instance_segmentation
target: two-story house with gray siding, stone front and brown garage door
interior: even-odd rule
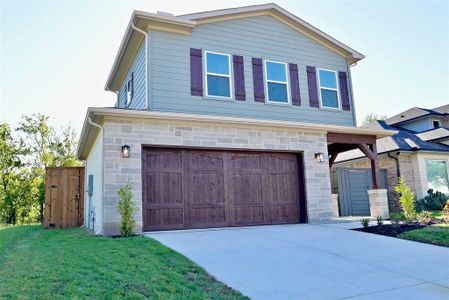
[[[128,182],[137,232],[331,219],[329,163],[362,147],[377,179],[376,139],[393,134],[355,125],[362,58],[274,4],[135,11],[105,87],[116,106],[89,108],[81,132],[85,224],[117,234]]]

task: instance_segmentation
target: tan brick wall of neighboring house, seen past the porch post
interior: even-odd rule
[[[415,187],[415,174],[413,169],[413,155],[409,153],[400,153],[399,168],[401,171],[401,176],[404,178],[404,182],[410,187],[413,193],[416,195]],[[388,157],[386,154],[379,155],[378,158],[379,168],[387,169],[388,178],[388,198],[389,198],[389,208],[390,212],[400,211],[399,197],[395,192],[395,187],[398,184],[396,162],[394,159]],[[355,162],[344,162],[335,164],[332,169],[335,168],[371,168],[370,161],[368,159],[355,161]]]

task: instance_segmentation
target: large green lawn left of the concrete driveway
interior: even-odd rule
[[[0,227],[0,299],[246,299],[159,242]]]

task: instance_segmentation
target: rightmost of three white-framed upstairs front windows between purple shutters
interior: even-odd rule
[[[321,107],[340,108],[340,96],[338,92],[337,72],[318,69],[318,81],[320,84]]]

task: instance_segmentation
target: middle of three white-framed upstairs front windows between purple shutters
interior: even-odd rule
[[[265,61],[265,88],[268,95],[268,102],[290,102],[286,63]]]

